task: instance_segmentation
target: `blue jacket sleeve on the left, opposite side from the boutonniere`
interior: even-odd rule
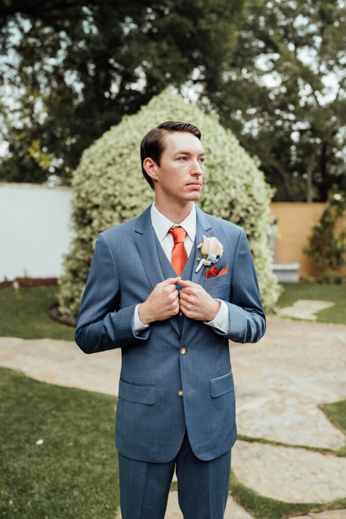
[[[101,233],[77,318],[75,340],[85,353],[128,346],[148,338],[150,327],[138,334],[132,329],[136,305],[117,309],[119,295],[117,265],[108,240]]]

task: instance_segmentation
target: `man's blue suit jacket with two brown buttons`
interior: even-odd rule
[[[173,459],[185,427],[201,460],[224,454],[237,438],[228,340],[256,342],[266,320],[244,231],[198,207],[196,211],[196,243],[202,235],[216,236],[224,247],[217,267],[228,265],[228,271],[206,278],[206,267],[195,272],[195,262],[191,281],[227,303],[227,334],[187,317],[181,333],[175,316],[133,332],[135,306],[164,280],[150,206],[96,240],[75,338],[85,353],[121,347],[116,446],[130,458]],[[186,354],[181,354],[183,347]]]

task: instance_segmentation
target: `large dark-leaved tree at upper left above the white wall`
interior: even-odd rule
[[[68,182],[82,151],[124,114],[184,84],[197,66],[218,77],[244,3],[7,0],[0,114],[9,157],[0,180],[55,173]]]

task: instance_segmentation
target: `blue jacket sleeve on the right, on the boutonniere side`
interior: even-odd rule
[[[241,229],[231,280],[229,301],[229,331],[218,335],[235,343],[256,343],[266,331],[266,316],[259,296],[255,265],[244,230]]]

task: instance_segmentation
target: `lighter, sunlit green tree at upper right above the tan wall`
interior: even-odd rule
[[[205,79],[199,103],[259,157],[276,199],[326,200],[332,184],[346,186],[345,2],[246,9],[229,71],[216,87]]]

